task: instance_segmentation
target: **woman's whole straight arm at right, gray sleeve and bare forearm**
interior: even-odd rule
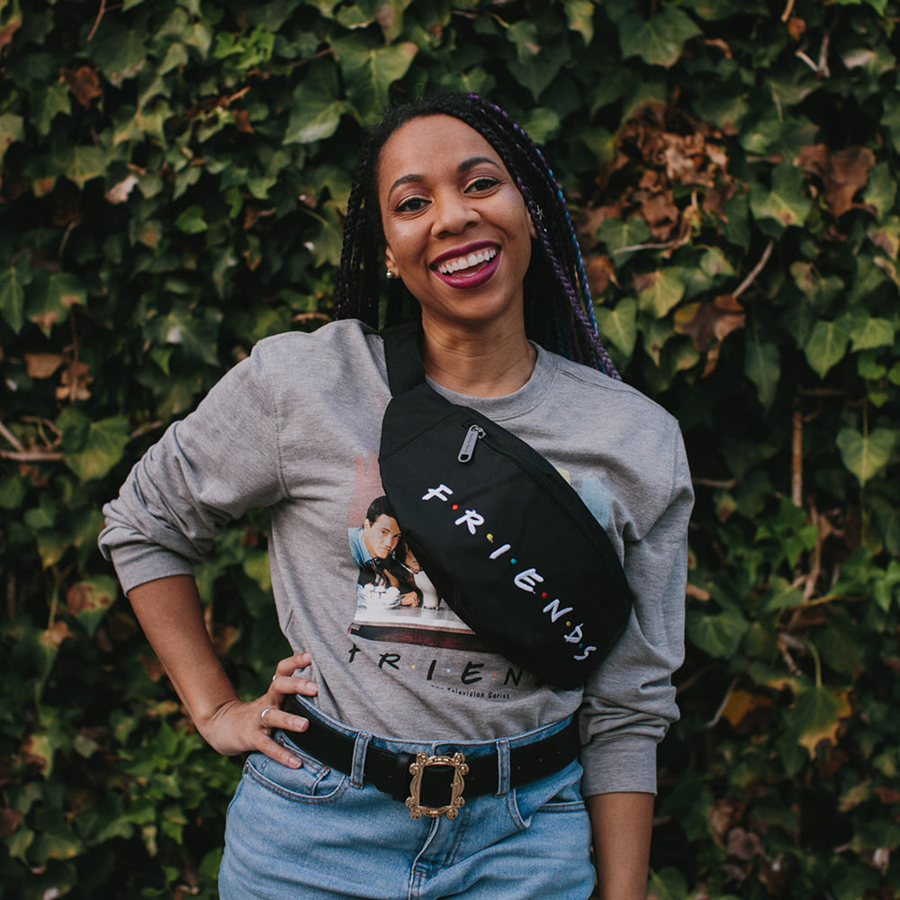
[[[684,652],[687,530],[693,495],[680,435],[668,490],[626,544],[635,593],[626,633],[585,686],[582,791],[587,798],[599,897],[645,900],[656,790],[656,745],[678,718],[671,674]]]

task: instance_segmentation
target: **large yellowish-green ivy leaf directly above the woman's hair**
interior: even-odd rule
[[[335,54],[347,95],[363,121],[374,121],[387,105],[391,85],[409,71],[419,48],[409,40],[373,47],[361,37],[336,40]]]

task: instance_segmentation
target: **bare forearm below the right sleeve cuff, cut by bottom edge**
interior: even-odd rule
[[[587,798],[600,900],[646,900],[653,794]]]

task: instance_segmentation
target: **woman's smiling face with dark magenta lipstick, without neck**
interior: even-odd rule
[[[385,263],[423,324],[521,329],[535,232],[487,140],[452,116],[412,119],[385,142],[377,178]]]

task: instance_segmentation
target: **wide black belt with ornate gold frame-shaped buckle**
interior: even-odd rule
[[[349,774],[353,767],[356,739],[343,734],[309,715],[293,697],[283,708],[306,718],[310,727],[304,732],[284,730],[293,743],[331,769]],[[452,746],[452,745],[450,745]],[[509,788],[520,788],[532,781],[553,775],[575,759],[578,753],[578,724],[575,718],[562,731],[509,748]],[[454,818],[464,797],[496,794],[500,789],[500,765],[497,752],[466,758],[464,753],[448,751],[444,755],[395,753],[374,747],[365,752],[363,778],[395,800],[410,807],[414,819],[419,815]]]

